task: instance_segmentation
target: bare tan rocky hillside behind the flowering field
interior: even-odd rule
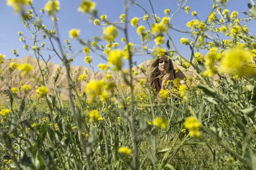
[[[31,77],[21,77],[20,72],[15,69],[15,71],[12,71],[12,74],[8,71],[9,65],[11,62],[17,62],[18,64],[22,63],[29,63],[34,67],[34,71],[32,72],[31,77],[37,77],[36,79],[31,79]],[[133,67],[134,71],[137,71],[138,75],[134,76],[135,79],[141,79],[145,77],[145,74],[142,73],[140,67],[142,66],[143,68],[149,68],[150,60],[147,60],[146,62],[141,63],[138,66]],[[180,68],[181,71],[185,75],[188,75],[189,77],[194,77],[195,75],[192,72],[185,72],[184,68],[181,68],[177,62],[173,62],[174,68]],[[40,68],[43,71],[43,74],[46,75],[44,76],[44,81],[46,82],[48,88],[53,88],[54,87],[54,82],[52,82],[49,77],[56,77],[57,70],[56,68],[59,68],[59,76],[58,80],[56,81],[56,84],[59,85],[59,87],[67,89],[67,77],[66,77],[66,69],[64,67],[61,67],[61,65],[54,64],[52,62],[47,62],[47,66],[49,68],[49,73],[47,72],[46,64],[44,61],[41,59],[37,60],[33,58],[32,56],[27,56],[21,59],[4,59],[3,64],[1,64],[1,69],[3,70],[2,77],[5,77],[0,80],[0,91],[5,94],[5,91],[9,87],[19,87],[20,88],[20,81],[23,81],[24,85],[30,85],[31,87],[34,87],[32,89],[32,94],[35,93],[35,89],[37,88],[38,85],[43,85],[42,83],[42,75],[40,72]],[[76,70],[76,72],[75,72]],[[129,69],[123,69],[124,71],[129,71]],[[81,82],[80,80],[77,81],[77,89],[81,93],[84,90],[85,84],[90,80],[90,79],[105,79],[105,73],[103,72],[93,72],[90,68],[87,68],[85,66],[71,66],[70,71],[72,73],[72,80],[75,82],[75,79],[79,78],[79,75],[85,74],[85,71],[87,71],[87,78],[86,81]],[[49,76],[48,76],[49,75]],[[120,73],[114,73],[112,74],[112,78],[115,81],[122,81],[122,74]],[[40,81],[39,81],[40,80]],[[65,96],[65,95],[64,95]]]

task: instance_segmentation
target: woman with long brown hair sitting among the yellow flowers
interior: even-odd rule
[[[176,78],[181,79],[181,85],[186,84],[186,82],[184,81],[184,79],[186,80],[185,75],[181,71],[178,71],[176,73],[172,64],[172,60],[168,59],[169,55],[169,53],[165,53],[162,57],[156,56],[151,64],[151,71],[148,77],[148,83],[152,89],[157,90],[157,93],[159,93],[161,89],[165,90],[167,88],[167,86],[164,84],[168,80],[171,80],[171,87],[174,86],[173,80]],[[163,80],[166,80],[166,82]]]

